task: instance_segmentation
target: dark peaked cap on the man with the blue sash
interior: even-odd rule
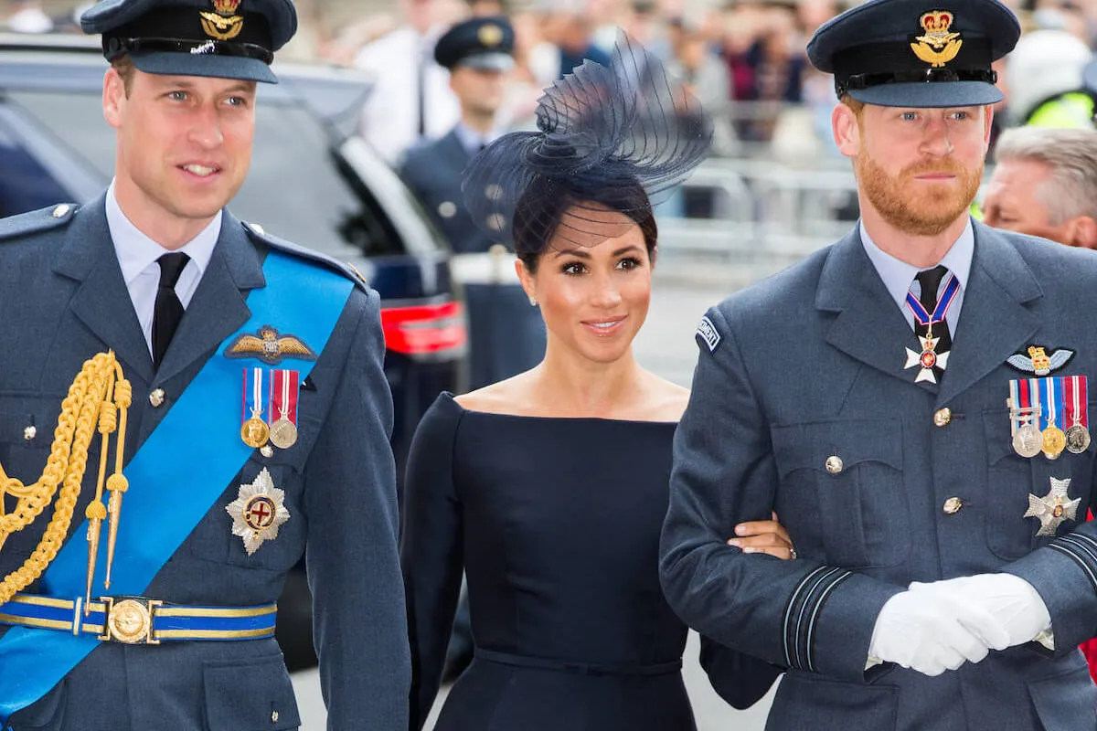
[[[274,52],[293,37],[291,0],[102,0],[80,16],[108,60],[128,55],[146,73],[278,83]]]

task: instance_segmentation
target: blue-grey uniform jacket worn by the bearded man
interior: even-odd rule
[[[1029,493],[1068,478],[1085,519],[1097,439],[1054,461],[1022,458],[1006,407],[1009,380],[1029,376],[1006,361],[1029,345],[1075,351],[1053,376],[1097,376],[1097,255],[981,224],[974,233],[939,387],[904,369],[917,342],[856,230],[712,308],[699,331],[660,575],[689,625],[788,667],[768,729],[1097,729],[1077,649],[1097,635],[1097,524],[1038,538],[1037,518],[1022,517]],[[725,545],[770,510],[799,560]],[[866,673],[892,595],[996,571],[1039,592],[1054,653],[1029,643],[938,677]]]

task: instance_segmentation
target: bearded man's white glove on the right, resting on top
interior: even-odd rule
[[[1051,615],[1040,594],[1032,589],[1032,584],[1011,573],[980,573],[931,584],[915,582],[911,584],[911,591],[926,597],[950,596],[982,607],[1006,629],[1009,636],[1006,647],[1038,639],[1051,627]],[[1040,640],[1047,644],[1044,638]]]

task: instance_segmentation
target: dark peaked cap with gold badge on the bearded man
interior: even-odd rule
[[[869,0],[829,20],[807,44],[838,96],[881,106],[974,106],[1002,101],[991,62],[1020,35],[997,0]]]

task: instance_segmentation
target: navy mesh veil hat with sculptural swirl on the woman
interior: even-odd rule
[[[608,224],[606,210],[649,210],[712,142],[697,100],[624,33],[610,68],[587,60],[545,90],[536,124],[495,140],[465,170],[465,205],[494,241],[513,245],[516,220],[579,245],[620,236],[620,217]]]

